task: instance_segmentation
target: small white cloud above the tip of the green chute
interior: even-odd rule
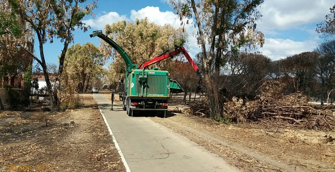
[[[83,22],[90,25],[92,28],[104,29],[106,24],[112,24],[123,20],[128,21],[125,15],[120,16],[116,12],[109,12],[105,15],[98,16],[96,19],[88,19]]]

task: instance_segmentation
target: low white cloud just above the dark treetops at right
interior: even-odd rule
[[[294,41],[291,39],[265,38],[265,44],[258,51],[263,55],[278,60],[295,54],[310,52],[317,47],[317,41]]]

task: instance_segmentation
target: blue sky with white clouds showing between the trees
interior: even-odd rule
[[[315,31],[316,25],[325,20],[333,5],[333,0],[265,0],[259,9],[263,17],[257,23],[257,29],[264,33],[265,44],[252,51],[261,52],[272,60],[313,51],[324,41]],[[90,38],[89,34],[94,30],[104,30],[106,24],[123,20],[133,22],[137,18],[147,17],[149,22],[157,25],[169,23],[175,28],[180,27],[179,18],[169,0],[98,0],[94,13],[93,17],[84,20],[91,29],[87,32],[76,30],[72,44],[92,42],[98,46],[99,38]],[[185,26],[185,31],[189,35],[187,51],[194,57],[201,49],[196,44],[196,28],[192,22]],[[35,54],[39,57],[38,41],[35,42]],[[57,64],[62,50],[61,42],[54,40],[53,44],[48,43],[44,48],[47,63]]]

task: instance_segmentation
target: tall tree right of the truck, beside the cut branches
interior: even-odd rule
[[[242,47],[253,48],[264,44],[264,36],[256,30],[256,21],[261,14],[258,7],[262,0],[170,0],[182,24],[185,18],[195,18],[197,40],[202,48],[202,64],[208,83],[211,81],[211,66],[215,64],[215,76],[218,78],[221,66],[228,52],[237,52]],[[206,45],[209,44],[209,49]],[[218,79],[215,79],[216,81]],[[213,87],[214,86],[214,87]],[[218,88],[208,85],[208,94],[215,94]],[[219,115],[219,98],[210,96],[211,117]]]

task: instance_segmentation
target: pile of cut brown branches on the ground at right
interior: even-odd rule
[[[331,107],[308,104],[309,97],[295,93],[284,95],[285,84],[267,81],[254,101],[232,98],[224,105],[224,118],[235,122],[260,121],[302,129],[335,130],[335,115]],[[335,108],[335,107],[333,107]]]

